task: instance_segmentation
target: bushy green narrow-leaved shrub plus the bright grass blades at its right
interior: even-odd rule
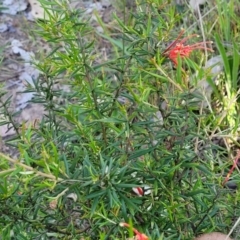
[[[2,239],[125,239],[120,222],[151,239],[229,231],[240,214],[239,191],[222,186],[231,162],[210,134],[236,133],[239,122],[225,115],[224,126],[217,125],[217,110],[200,107],[190,78],[200,57],[174,69],[163,56],[179,32],[175,6],[143,1],[129,19],[115,15],[114,27],[99,33],[84,12],[41,3],[49,20],[38,22],[38,35],[53,49],[35,63],[42,74],[27,91],[45,116],[13,124],[17,137],[9,143],[19,160],[0,154]],[[106,59],[101,41],[112,49]],[[227,97],[237,99],[239,46],[233,43],[230,68],[219,35],[216,44]],[[1,109],[14,123],[9,101]],[[237,101],[231,109],[236,114]],[[137,187],[146,194],[136,195]]]

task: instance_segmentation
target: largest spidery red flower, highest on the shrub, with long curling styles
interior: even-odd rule
[[[171,43],[166,50],[163,52],[163,55],[167,56],[168,58],[170,58],[170,60],[175,64],[175,66],[177,66],[178,62],[178,55],[181,58],[184,57],[189,57],[189,55],[191,54],[191,52],[193,50],[196,49],[205,49],[208,51],[213,52],[213,50],[211,48],[206,48],[205,45],[206,44],[211,44],[212,42],[208,41],[208,42],[199,42],[199,43],[195,43],[193,45],[184,45],[190,38],[197,36],[196,34],[192,34],[188,37],[183,38],[182,40],[180,40],[181,36],[183,35],[184,30],[182,30],[177,39]]]

